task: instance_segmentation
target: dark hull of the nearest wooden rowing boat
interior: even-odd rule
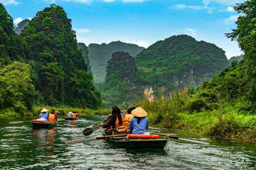
[[[106,134],[103,130],[104,136]],[[124,140],[126,139],[126,140]],[[163,149],[167,143],[167,138],[160,137],[159,139],[128,139],[124,137],[112,137],[105,138],[108,143],[114,144],[119,148],[129,148],[129,149]]]

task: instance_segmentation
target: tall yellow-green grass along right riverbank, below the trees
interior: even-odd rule
[[[179,99],[179,100],[178,100]],[[198,132],[205,135],[256,141],[256,116],[232,105],[220,104],[218,110],[186,111],[188,99],[145,100],[137,104],[148,112],[151,126]]]

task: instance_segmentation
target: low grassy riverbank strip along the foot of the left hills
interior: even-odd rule
[[[4,117],[18,117],[18,116],[38,116],[43,108],[49,110],[50,113],[51,109],[55,110],[56,115],[67,115],[69,111],[74,112],[77,111],[78,115],[81,116],[89,116],[89,115],[99,115],[102,113],[103,115],[108,115],[111,113],[112,109],[98,109],[98,110],[91,110],[91,109],[83,109],[83,108],[73,108],[69,106],[34,106],[31,111],[27,111],[23,114],[15,112],[13,109],[5,109],[0,111],[0,116]]]

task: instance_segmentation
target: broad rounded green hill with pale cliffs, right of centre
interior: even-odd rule
[[[165,96],[177,87],[196,88],[228,66],[225,51],[187,35],[158,41],[135,57],[135,82]],[[164,89],[163,89],[164,88]]]

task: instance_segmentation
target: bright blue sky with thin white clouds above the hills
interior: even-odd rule
[[[243,0],[0,0],[17,25],[55,3],[72,19],[78,42],[122,41],[149,45],[187,34],[216,44],[227,58],[240,55],[237,42],[225,37],[236,28],[230,7]]]

